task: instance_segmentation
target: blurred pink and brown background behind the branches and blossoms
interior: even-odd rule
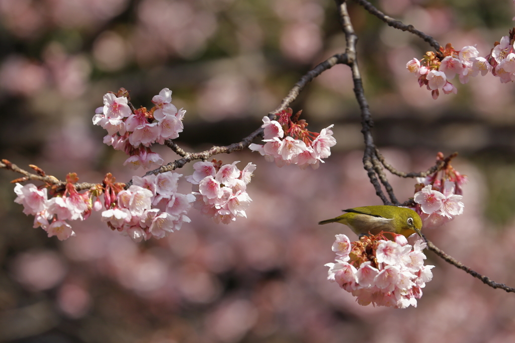
[[[486,56],[508,34],[511,1],[374,2],[456,49]],[[354,3],[359,62],[374,139],[400,170],[425,170],[458,151],[469,176],[464,215],[426,235],[497,282],[515,285],[515,90],[491,75],[437,100],[405,64],[429,46]],[[187,110],[176,141],[188,151],[241,140],[317,63],[345,50],[329,0],[0,0],[0,158],[63,179],[143,175],[102,144],[92,125],[102,95],[124,87],[136,107],[162,88]],[[335,124],[319,169],[277,168],[250,151],[225,163],[258,165],[248,218],[192,222],[135,244],[98,213],[71,222],[65,242],[33,229],[0,170],[0,341],[5,342],[513,342],[515,297],[427,252],[436,265],[417,308],[359,306],[329,283],[334,235],[318,227],[341,209],[379,204],[362,166],[350,71],[338,65],[292,105],[314,131]],[[257,142],[256,142],[257,143]],[[176,155],[157,149],[166,162]],[[192,166],[178,170],[192,174]],[[403,201],[414,180],[390,180]],[[184,193],[190,186],[181,183]]]

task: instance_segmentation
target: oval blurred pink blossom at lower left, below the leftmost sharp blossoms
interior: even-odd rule
[[[15,257],[12,272],[14,279],[25,288],[46,290],[61,282],[66,275],[66,267],[54,251],[29,251]]]

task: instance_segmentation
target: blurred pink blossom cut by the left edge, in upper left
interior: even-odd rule
[[[0,87],[16,95],[29,96],[44,85],[47,70],[23,56],[11,55],[0,67]]]

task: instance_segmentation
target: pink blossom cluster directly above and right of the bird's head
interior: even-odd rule
[[[443,161],[443,154],[438,153],[437,160]],[[463,213],[465,205],[462,186],[467,182],[467,176],[461,175],[450,164],[440,172],[425,178],[417,178],[415,186],[416,203],[414,210],[420,215],[423,228],[436,228],[453,220]]]

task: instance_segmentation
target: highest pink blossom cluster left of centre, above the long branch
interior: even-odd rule
[[[150,150],[153,143],[164,144],[176,139],[182,132],[185,110],[171,104],[171,91],[163,89],[152,98],[155,104],[150,111],[142,107],[134,111],[129,106],[128,92],[121,89],[117,94],[104,95],[104,107],[96,109],[93,124],[106,129],[104,143],[116,150],[123,150],[130,157],[124,162],[133,169],[158,167],[161,156]]]

